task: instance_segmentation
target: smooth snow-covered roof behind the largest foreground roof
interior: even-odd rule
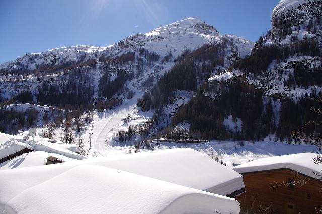
[[[188,148],[157,150],[79,161],[96,164],[168,181],[171,183],[228,195],[244,188],[243,177],[212,160],[208,155]]]

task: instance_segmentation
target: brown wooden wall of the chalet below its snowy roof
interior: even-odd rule
[[[236,197],[236,200],[240,203],[242,211],[309,214],[316,213],[316,209],[322,207],[322,182],[320,181],[289,169],[241,174],[244,176],[246,193]],[[282,185],[288,183],[288,179],[307,182],[297,184],[292,189],[292,186]],[[272,188],[272,186],[276,187]]]

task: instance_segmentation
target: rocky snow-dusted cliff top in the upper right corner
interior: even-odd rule
[[[282,0],[273,10],[273,29],[290,28],[322,18],[322,0]]]

